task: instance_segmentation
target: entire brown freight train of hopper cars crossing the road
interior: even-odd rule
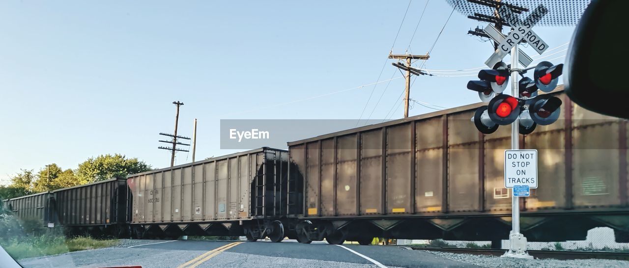
[[[583,240],[610,227],[629,242],[627,121],[589,112],[561,90],[562,118],[520,136],[538,150],[539,187],[520,198],[529,241]],[[245,235],[369,244],[507,239],[508,127],[476,130],[472,104],[173,168],[8,200],[74,232]],[[31,201],[28,201],[31,200]]]

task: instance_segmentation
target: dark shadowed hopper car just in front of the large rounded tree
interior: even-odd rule
[[[52,191],[58,223],[69,234],[128,235],[126,178],[113,178]]]

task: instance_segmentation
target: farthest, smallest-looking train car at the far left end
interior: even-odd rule
[[[4,201],[4,209],[20,219],[41,220],[45,227],[54,226],[54,198],[51,191],[20,196]]]

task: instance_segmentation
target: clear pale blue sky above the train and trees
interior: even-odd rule
[[[347,89],[377,81],[408,3],[2,1],[0,181],[19,169],[76,168],[107,153],[168,166],[157,140],[174,129],[174,100],[185,104],[181,135],[192,136],[198,119],[198,159],[233,153],[220,149],[220,119],[358,119],[365,104],[363,118],[373,110],[371,119],[384,119],[391,109],[391,118],[400,118],[403,79]],[[394,53],[430,50],[452,6],[430,1],[411,43],[425,6],[412,1]],[[455,11],[425,68],[484,65],[493,48],[467,35],[477,25],[485,23]],[[573,30],[535,28],[549,50],[567,43]],[[545,60],[565,48],[548,51],[560,52]],[[380,80],[401,76],[391,62]],[[442,107],[478,102],[465,88],[470,79],[419,77],[411,99]],[[431,111],[414,105],[410,114]],[[177,164],[190,160],[177,154]]]

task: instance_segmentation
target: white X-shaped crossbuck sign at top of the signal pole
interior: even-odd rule
[[[511,48],[513,48],[516,43],[520,42],[520,40],[524,40],[529,43],[539,54],[542,54],[545,50],[547,50],[547,43],[532,30],[533,26],[547,13],[548,9],[539,5],[537,8],[533,9],[531,14],[529,14],[524,21],[520,21],[520,18],[518,18],[515,13],[511,12],[511,9],[506,6],[499,8],[498,14],[500,14],[500,16],[509,23],[514,30],[511,31],[504,40],[501,40],[498,45],[498,49],[496,49],[493,55],[489,57],[485,64],[489,68],[494,68],[494,65],[503,60],[504,56],[507,55]],[[495,39],[496,38],[494,38],[494,40]]]

